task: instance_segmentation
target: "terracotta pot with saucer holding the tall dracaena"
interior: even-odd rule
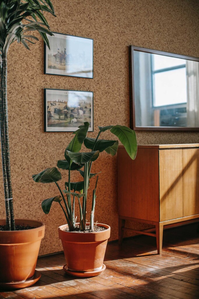
[[[0,287],[23,288],[30,286],[34,279],[35,267],[45,225],[41,221],[16,219],[16,225],[36,228],[24,231],[0,231]],[[0,219],[0,225],[5,219]],[[37,279],[37,280],[38,280]]]

